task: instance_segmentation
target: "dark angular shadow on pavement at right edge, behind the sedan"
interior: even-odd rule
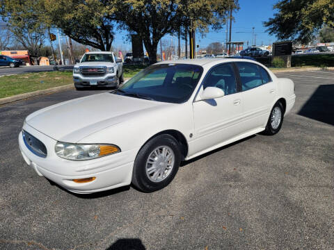
[[[334,85],[319,85],[298,115],[334,126]]]

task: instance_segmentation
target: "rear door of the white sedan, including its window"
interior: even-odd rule
[[[267,124],[277,85],[264,67],[255,63],[236,63],[241,81],[244,108],[244,131]]]

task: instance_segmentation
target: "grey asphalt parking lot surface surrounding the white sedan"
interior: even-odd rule
[[[24,163],[17,135],[27,115],[100,91],[0,106],[0,249],[333,249],[334,71],[277,76],[297,96],[280,133],[185,162],[150,194],[76,195]]]

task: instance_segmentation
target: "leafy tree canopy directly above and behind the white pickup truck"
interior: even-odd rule
[[[49,25],[81,44],[110,51],[114,39],[113,6],[108,0],[39,0]]]

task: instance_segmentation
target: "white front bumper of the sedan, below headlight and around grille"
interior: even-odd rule
[[[56,140],[49,138],[27,124],[24,124],[23,129],[38,138],[47,147],[46,158],[36,156],[24,144],[22,132],[19,133],[19,149],[26,163],[39,176],[45,176],[66,190],[79,194],[90,194],[131,183],[136,150],[122,151],[93,160],[66,160],[58,157],[54,152]],[[95,177],[95,180],[89,183],[75,183],[72,181],[77,178],[89,177]]]

